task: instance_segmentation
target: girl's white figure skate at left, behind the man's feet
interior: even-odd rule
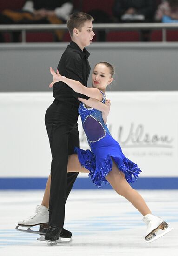
[[[22,232],[39,234],[39,231],[34,231],[30,228],[37,225],[42,226],[42,224],[48,225],[48,220],[49,220],[48,208],[44,205],[37,205],[35,213],[25,220],[18,221],[18,225],[15,229]],[[19,229],[19,226],[26,227],[27,229]]]

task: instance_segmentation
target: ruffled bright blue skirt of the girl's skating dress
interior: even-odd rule
[[[112,170],[113,161],[118,169],[125,174],[128,183],[133,183],[141,172],[137,164],[126,158],[117,141],[111,135],[106,136],[94,143],[91,143],[91,151],[75,147],[79,162],[89,170],[89,177],[92,182],[101,187],[101,183],[109,183],[105,177]]]

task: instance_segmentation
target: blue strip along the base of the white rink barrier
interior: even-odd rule
[[[0,178],[0,190],[45,189],[47,178]],[[134,189],[178,189],[178,177],[139,178],[132,184]],[[98,189],[89,178],[77,178],[73,189]],[[102,184],[102,189],[112,189]]]

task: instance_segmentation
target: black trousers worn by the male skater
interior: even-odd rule
[[[52,153],[49,225],[63,227],[65,203],[78,173],[67,173],[68,155],[79,147],[78,108],[54,100],[45,125]]]

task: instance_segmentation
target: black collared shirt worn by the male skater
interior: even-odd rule
[[[87,86],[90,74],[90,65],[88,62],[89,55],[90,53],[85,48],[82,51],[75,42],[71,41],[59,61],[59,73]],[[87,100],[89,99],[86,95],[74,92],[73,89],[63,82],[58,82],[53,85],[53,97],[77,108],[80,103],[78,101],[79,97]]]

